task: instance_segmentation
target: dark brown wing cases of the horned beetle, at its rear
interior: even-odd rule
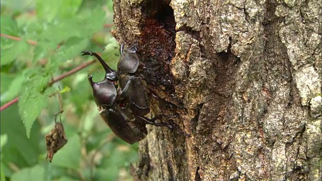
[[[126,117],[119,110],[104,110],[100,116],[116,136],[129,144],[141,141],[147,134],[145,124],[126,121]]]

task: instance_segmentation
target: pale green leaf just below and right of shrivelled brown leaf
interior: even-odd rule
[[[81,138],[74,134],[64,147],[54,155],[52,164],[56,166],[78,169],[81,161]]]

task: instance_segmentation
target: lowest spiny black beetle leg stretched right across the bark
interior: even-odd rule
[[[144,116],[139,116],[139,115],[134,115],[134,116],[135,116],[136,119],[144,121],[146,124],[150,124],[150,125],[154,125],[154,126],[158,126],[158,127],[164,126],[164,127],[170,128],[170,129],[176,129],[176,130],[179,131],[180,134],[183,134],[183,135],[188,136],[188,137],[191,136],[190,134],[187,134],[187,133],[183,132],[182,129],[177,124],[175,124],[172,119],[169,120],[170,124],[163,123],[163,122],[160,122],[160,123],[155,122],[156,120],[161,120],[162,117],[167,116],[167,115],[158,115],[158,116],[155,116],[152,119],[149,119],[149,118],[144,117]],[[178,117],[178,116],[176,115],[176,116],[167,116],[167,117],[175,118],[175,117]]]

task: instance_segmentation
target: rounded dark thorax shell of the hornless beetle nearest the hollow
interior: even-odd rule
[[[139,58],[136,53],[123,53],[121,59],[117,63],[119,73],[135,73],[139,66]]]

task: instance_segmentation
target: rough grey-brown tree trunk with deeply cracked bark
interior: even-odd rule
[[[148,88],[192,134],[148,126],[134,180],[320,180],[321,10],[320,0],[114,0],[112,34],[138,46]]]

